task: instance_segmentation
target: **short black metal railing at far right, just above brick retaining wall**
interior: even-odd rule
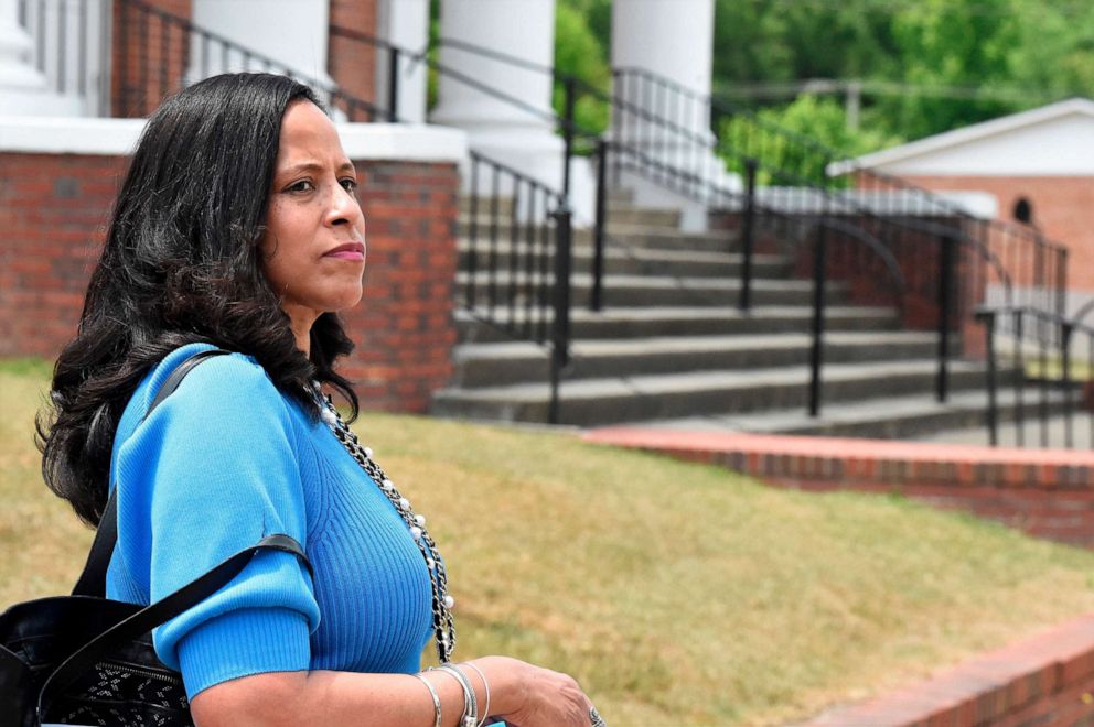
[[[991,446],[1000,444],[999,359],[1009,359],[1013,389],[1008,417],[1013,422],[1013,446],[1026,446],[1027,400],[1026,389],[1037,388],[1033,416],[1039,431],[1039,445],[1075,444],[1075,415],[1086,410],[1090,426],[1090,445],[1094,447],[1094,326],[1082,316],[1066,317],[1030,306],[984,306],[977,310],[976,319],[984,328],[988,361],[988,409],[986,426]],[[1000,337],[1010,337],[1010,349],[1000,349]],[[1085,339],[1085,345],[1082,340]],[[1076,345],[1079,344],[1079,345]],[[1028,352],[1033,348],[1032,355]],[[1077,350],[1077,352],[1076,352]],[[1084,356],[1085,354],[1085,356]],[[1083,373],[1074,376],[1076,364]],[[1059,375],[1051,369],[1059,367]],[[1031,372],[1031,369],[1034,369]],[[1053,420],[1062,425],[1063,438],[1053,437]],[[1062,422],[1059,420],[1062,419]]]

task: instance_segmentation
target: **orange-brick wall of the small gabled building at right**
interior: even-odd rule
[[[1033,221],[1050,239],[1070,250],[1069,286],[1094,290],[1094,178],[1092,177],[995,177],[995,176],[910,176],[909,182],[927,189],[987,192],[999,200],[999,218],[1013,221],[1015,205],[1021,197],[1032,203]],[[1000,241],[994,239],[998,249]],[[1013,254],[1013,253],[1011,253]],[[1016,281],[1029,284],[1029,280]]]

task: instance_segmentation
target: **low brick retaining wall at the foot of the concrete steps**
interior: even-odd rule
[[[899,492],[1094,547],[1094,452],[615,427],[591,442],[721,465],[769,485]]]

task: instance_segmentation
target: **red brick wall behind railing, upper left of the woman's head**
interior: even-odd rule
[[[192,0],[144,0],[165,13],[190,20]],[[143,117],[181,88],[190,62],[189,33],[159,15],[114,3],[110,115]]]

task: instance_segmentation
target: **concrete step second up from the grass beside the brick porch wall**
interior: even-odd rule
[[[812,345],[812,336],[804,334],[577,340],[571,347],[572,360],[566,378],[805,366]],[[935,348],[936,337],[930,333],[829,333],[825,337],[824,360],[840,364],[930,358]],[[453,387],[545,381],[549,371],[547,350],[524,341],[464,344],[457,346],[452,358]]]

